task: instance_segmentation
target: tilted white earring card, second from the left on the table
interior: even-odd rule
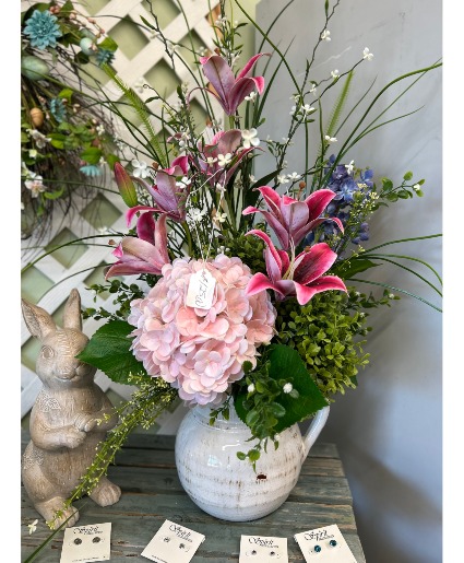
[[[157,563],[188,563],[204,541],[204,536],[166,520],[142,551],[142,556]]]

